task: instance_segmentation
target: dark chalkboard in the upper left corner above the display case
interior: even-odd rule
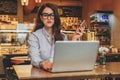
[[[0,0],[0,14],[17,14],[17,0]]]

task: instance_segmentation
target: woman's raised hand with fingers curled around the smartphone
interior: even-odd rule
[[[77,28],[76,32],[73,34],[72,40],[77,40],[78,38],[80,38],[83,33],[85,33],[84,30],[85,26]]]

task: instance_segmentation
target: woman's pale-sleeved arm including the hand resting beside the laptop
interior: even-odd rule
[[[52,63],[41,58],[39,39],[35,34],[31,34],[28,44],[31,64],[48,71],[52,70]]]

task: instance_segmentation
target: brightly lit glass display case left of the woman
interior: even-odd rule
[[[0,26],[0,53],[28,53],[27,40],[34,24],[3,24]]]

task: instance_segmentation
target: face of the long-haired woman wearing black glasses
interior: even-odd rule
[[[40,16],[44,27],[46,28],[52,28],[53,24],[54,24],[54,12],[51,8],[46,7],[43,12],[42,15]]]

